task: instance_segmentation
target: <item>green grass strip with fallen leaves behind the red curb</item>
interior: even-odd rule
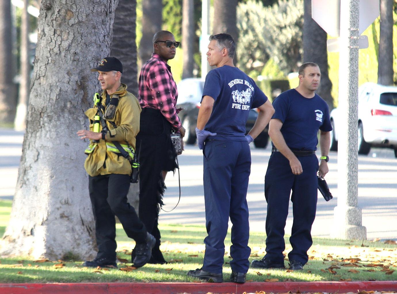
[[[0,201],[0,236],[4,234],[11,201]],[[161,250],[166,265],[145,265],[131,269],[131,249],[135,246],[117,224],[118,269],[93,269],[82,261],[37,262],[30,257],[1,258],[0,282],[193,282],[187,271],[201,267],[204,256],[204,226],[160,225]],[[264,255],[266,235],[251,232],[250,261]],[[291,250],[288,236],[286,252]],[[225,240],[224,280],[229,280],[230,232]],[[303,271],[249,269],[248,281],[339,281],[397,280],[397,246],[381,242],[314,238]],[[288,261],[285,260],[288,266]]]

